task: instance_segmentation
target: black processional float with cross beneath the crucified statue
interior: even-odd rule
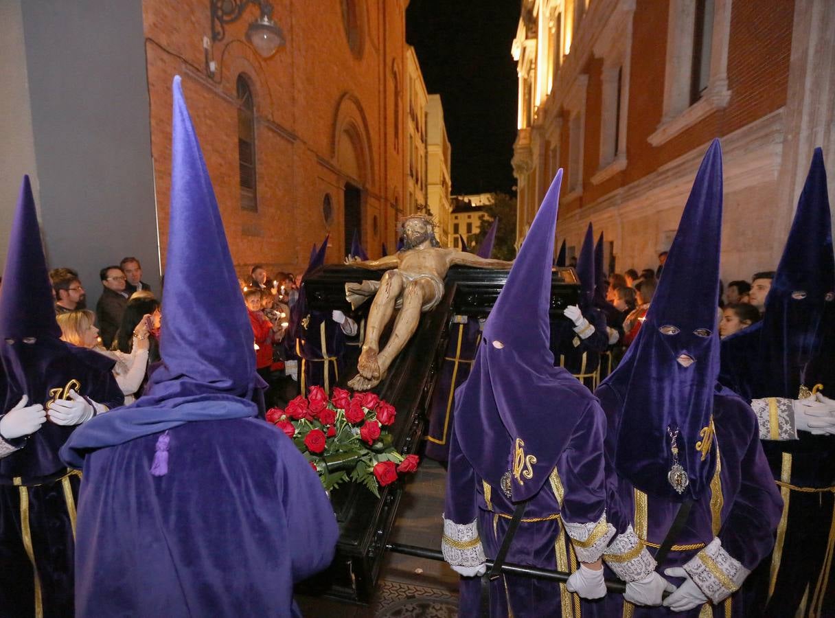
[[[340,310],[361,322],[372,303],[364,303],[352,311],[345,298],[345,284],[379,280],[384,272],[357,266],[322,266],[303,282],[308,308],[322,312]],[[397,409],[397,419],[391,432],[399,453],[407,455],[420,448],[453,317],[487,317],[498,293],[502,291],[508,272],[453,266],[444,281],[443,300],[432,311],[423,314],[411,341],[389,367],[387,376],[372,389]],[[565,319],[564,308],[576,305],[578,301],[579,281],[574,269],[554,269],[550,306],[552,320]],[[524,319],[522,307],[520,319]],[[352,373],[349,371],[348,376],[342,377],[341,385],[347,382],[347,377],[352,377]],[[352,483],[331,491],[331,503],[340,528],[337,555],[327,570],[302,582],[297,591],[368,603],[377,585],[386,550],[439,560],[437,548],[387,545],[402,491],[402,481],[381,488],[379,498],[361,485]],[[564,580],[564,576],[558,573],[548,575],[546,571],[519,565],[504,565],[502,568],[534,577]]]

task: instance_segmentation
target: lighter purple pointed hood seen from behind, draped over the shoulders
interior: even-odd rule
[[[175,76],[171,200],[162,298],[162,365],[144,395],[119,413],[85,423],[61,456],[84,453],[191,421],[254,417],[257,380],[252,327],[220,220],[200,143]],[[208,296],[195,278],[214,281]],[[172,444],[172,448],[175,448]]]

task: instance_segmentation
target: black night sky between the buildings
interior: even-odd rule
[[[514,0],[412,0],[406,40],[429,94],[440,94],[453,149],[453,194],[515,185],[516,63]]]

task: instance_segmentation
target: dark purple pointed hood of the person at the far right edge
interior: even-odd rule
[[[835,379],[831,216],[823,151],[816,148],[760,327],[760,373],[775,397],[796,398],[801,384],[826,388]]]

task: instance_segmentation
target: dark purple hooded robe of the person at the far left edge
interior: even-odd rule
[[[70,389],[115,408],[122,393],[114,362],[60,341],[28,176],[23,178],[0,291],[0,403],[5,413],[25,394],[44,408]],[[33,337],[33,342],[28,338]],[[0,438],[0,615],[73,613],[73,546],[78,474],[58,449],[78,425],[43,423],[37,432]]]

